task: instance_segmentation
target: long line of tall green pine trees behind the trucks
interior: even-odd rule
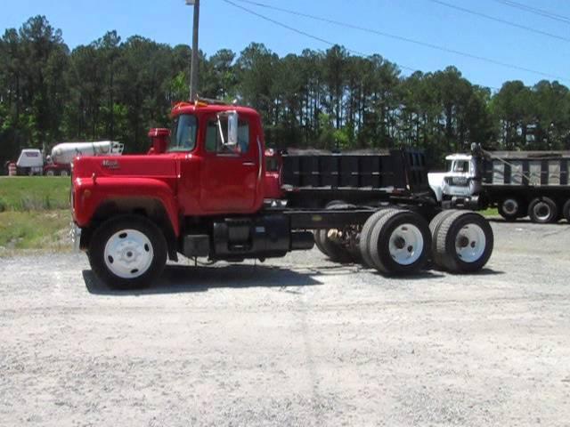
[[[340,45],[280,57],[264,44],[239,54],[200,52],[203,97],[238,100],[264,119],[276,148],[425,149],[433,164],[467,150],[570,149],[570,93],[542,80],[508,81],[499,91],[460,70],[403,76],[379,54]],[[110,31],[73,50],[44,16],[8,28],[0,40],[0,161],[59,141],[121,141],[148,149],[151,127],[168,126],[189,97],[191,49]]]

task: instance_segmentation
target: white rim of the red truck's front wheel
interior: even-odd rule
[[[105,245],[107,268],[119,278],[138,278],[151,267],[151,240],[138,230],[120,230]]]

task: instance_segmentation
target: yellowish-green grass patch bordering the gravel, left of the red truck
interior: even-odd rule
[[[0,255],[22,249],[70,247],[70,221],[69,209],[0,213]]]

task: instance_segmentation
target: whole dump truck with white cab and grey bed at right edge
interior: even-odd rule
[[[486,151],[446,157],[445,173],[429,173],[433,196],[446,207],[496,207],[507,221],[570,222],[570,151]]]

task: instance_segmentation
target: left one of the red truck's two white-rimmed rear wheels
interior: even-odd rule
[[[412,274],[428,261],[428,222],[411,211],[395,210],[372,229],[370,255],[374,267],[388,275]]]

